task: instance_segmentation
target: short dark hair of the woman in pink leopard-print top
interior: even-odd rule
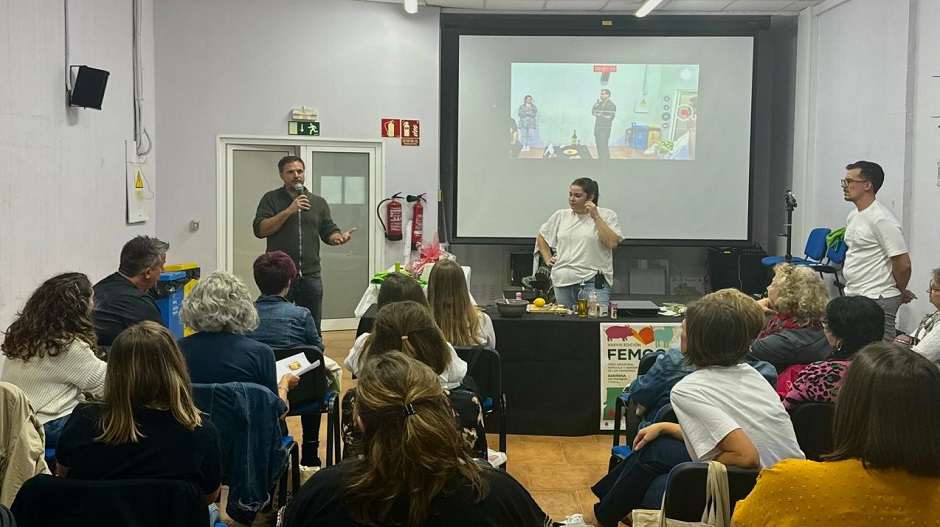
[[[884,339],[885,312],[864,296],[838,296],[826,305],[826,326],[839,339],[829,360],[846,360],[867,344]]]

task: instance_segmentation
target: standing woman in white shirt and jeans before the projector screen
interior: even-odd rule
[[[556,211],[539,228],[536,243],[552,268],[552,286],[559,305],[577,304],[582,290],[586,294],[596,291],[599,303],[610,302],[613,251],[623,239],[623,232],[617,213],[597,206],[598,194],[593,179],[574,180],[568,189],[569,208]]]

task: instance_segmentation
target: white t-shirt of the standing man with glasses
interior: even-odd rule
[[[901,224],[887,207],[875,200],[865,210],[853,210],[845,220],[845,255],[842,275],[845,294],[877,299],[901,294],[891,270],[891,257],[905,254]]]

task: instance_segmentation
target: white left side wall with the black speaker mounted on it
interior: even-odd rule
[[[144,113],[153,127],[151,4],[143,2]],[[63,0],[0,4],[0,330],[40,282],[117,269],[125,241],[124,141],[133,139],[131,3],[70,3],[71,63],[108,70],[103,110],[65,104]],[[156,189],[155,160],[147,163]],[[153,207],[150,206],[153,215]]]

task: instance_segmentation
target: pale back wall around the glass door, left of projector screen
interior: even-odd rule
[[[375,139],[382,118],[420,119],[420,147],[389,140],[386,189],[436,196],[438,15],[349,0],[156,2],[157,124],[169,195],[157,206],[157,234],[170,242],[171,259],[216,268],[216,136],[284,135],[292,107],[317,108],[330,138]],[[258,177],[280,184],[277,167]],[[191,219],[201,221],[195,233]],[[424,222],[437,225],[433,201]],[[388,263],[394,257],[387,251]]]

